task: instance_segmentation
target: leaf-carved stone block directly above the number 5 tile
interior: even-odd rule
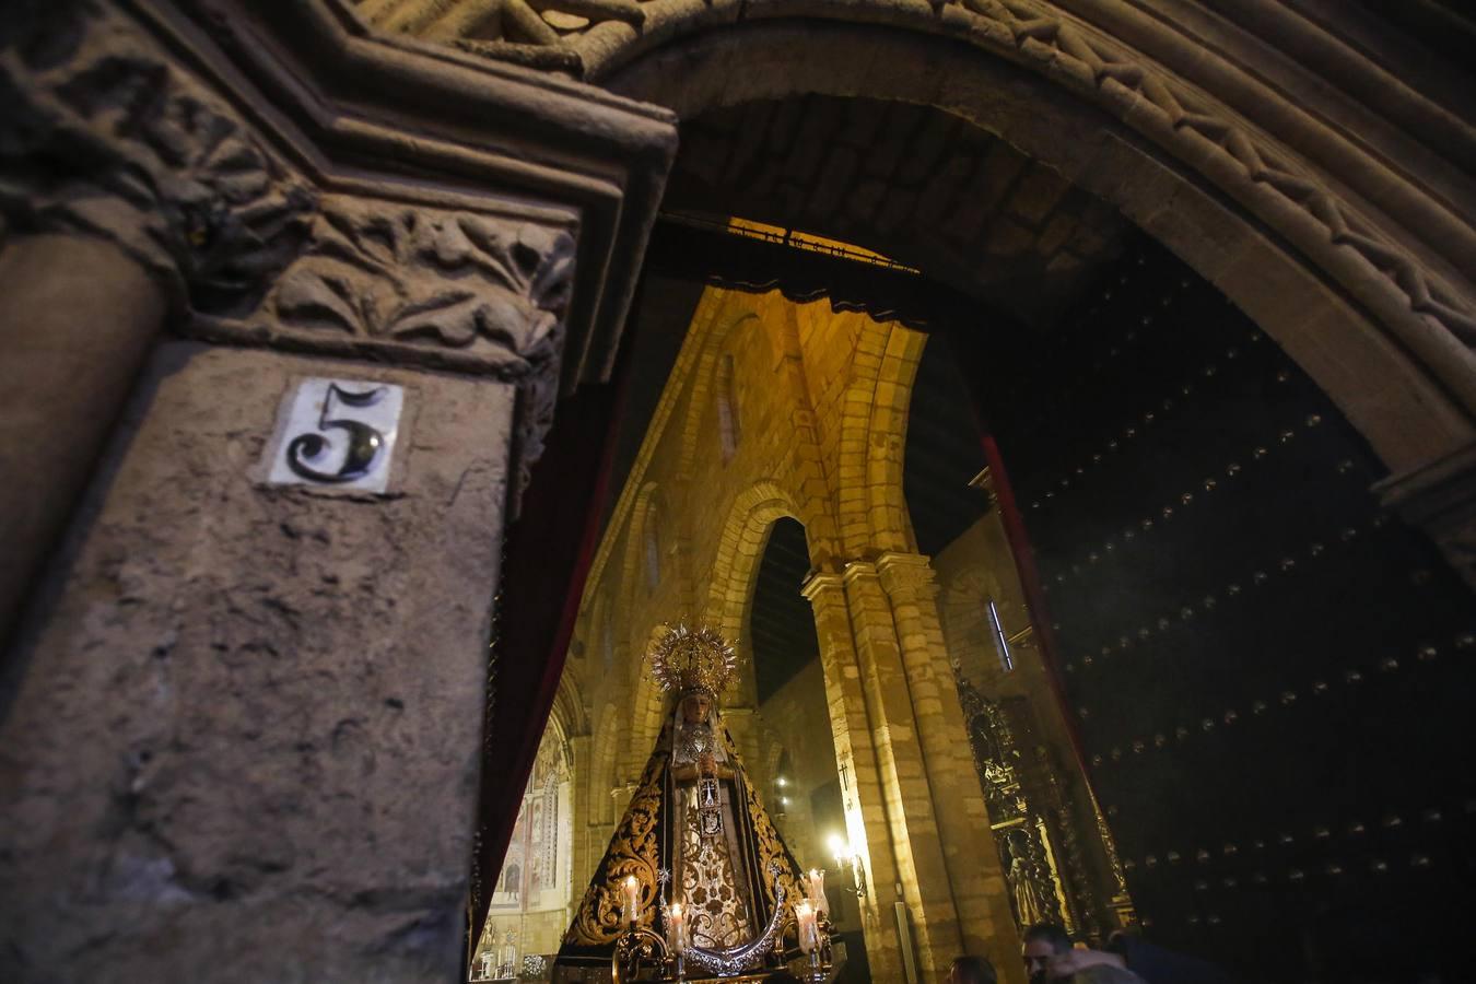
[[[257,308],[190,333],[490,375],[517,384],[517,515],[559,395],[574,271],[564,229],[500,214],[323,196]]]

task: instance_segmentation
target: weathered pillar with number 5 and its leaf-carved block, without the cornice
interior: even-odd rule
[[[214,257],[257,276],[227,308],[182,310],[183,332],[232,344],[156,348],[7,655],[0,952],[18,981],[444,977],[502,531],[558,392],[568,218],[434,189],[279,193],[295,179],[176,81],[161,100],[258,165],[199,230],[258,246]],[[292,229],[292,251],[233,207]],[[195,242],[148,221],[143,242]],[[319,398],[289,422],[310,378],[401,388],[387,487],[325,478],[353,415]],[[282,484],[272,463],[304,434],[339,441]]]

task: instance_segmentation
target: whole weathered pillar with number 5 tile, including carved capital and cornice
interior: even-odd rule
[[[78,3],[0,38],[0,208],[123,285],[55,301],[112,441],[3,664],[7,981],[458,974],[503,528],[610,364],[675,128],[341,13]],[[171,336],[115,420],[142,270]]]

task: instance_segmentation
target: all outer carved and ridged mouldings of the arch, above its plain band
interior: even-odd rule
[[[1461,211],[1470,201],[1461,174],[1469,174],[1476,130],[1414,87],[1396,84],[1380,58],[1351,58],[1355,46],[1337,25],[1299,16],[1293,4],[1166,6],[1178,13],[1079,0],[362,0],[359,9],[382,31],[483,55],[537,62],[556,53],[549,68],[618,91],[626,91],[621,72],[639,68],[645,55],[679,65],[673,49],[683,38],[707,44],[713,35],[757,31],[759,24],[809,18],[884,25],[899,37],[956,38],[1101,108],[1238,202],[1367,307],[1467,413],[1476,412],[1469,260],[1476,232]],[[525,16],[509,15],[524,7]],[[1256,21],[1252,7],[1271,21]],[[1348,19],[1359,16],[1349,12]],[[539,27],[514,27],[525,21]],[[1258,34],[1272,22],[1274,31]],[[714,58],[739,68],[742,52],[732,44]],[[1334,84],[1309,84],[1294,66],[1299,56]],[[762,89],[773,97],[775,86]],[[1374,89],[1387,103],[1371,106],[1358,96]],[[703,108],[704,96],[641,91]],[[722,93],[728,102],[739,97],[732,87]],[[1405,136],[1389,136],[1407,119],[1421,122],[1405,127]]]

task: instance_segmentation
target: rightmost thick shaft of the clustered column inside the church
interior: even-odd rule
[[[989,834],[989,811],[974,769],[968,729],[937,614],[933,567],[917,553],[877,559],[906,667],[927,785],[968,953],[986,953],[1005,980],[1018,972],[1010,890]]]

